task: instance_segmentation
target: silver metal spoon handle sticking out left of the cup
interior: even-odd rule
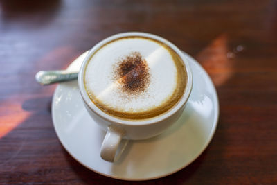
[[[78,73],[65,70],[60,71],[39,71],[35,75],[35,80],[41,85],[50,85],[57,82],[66,82],[78,78]]]

